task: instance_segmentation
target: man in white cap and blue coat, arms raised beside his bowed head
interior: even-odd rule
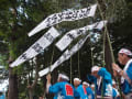
[[[94,66],[88,80],[96,85],[97,99],[112,99],[112,78],[105,67]]]

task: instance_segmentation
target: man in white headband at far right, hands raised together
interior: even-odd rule
[[[132,52],[128,48],[121,48],[118,53],[118,61],[124,66],[123,69],[116,63],[112,64],[114,76],[121,77],[121,89],[125,99],[132,98]]]

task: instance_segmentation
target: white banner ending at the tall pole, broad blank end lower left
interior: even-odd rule
[[[64,51],[79,35],[86,34],[88,30],[92,30],[92,29],[101,30],[106,23],[107,21],[100,21],[91,25],[72,30],[68,33],[66,33],[55,45],[57,46],[58,50]]]

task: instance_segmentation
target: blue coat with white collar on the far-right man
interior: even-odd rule
[[[132,92],[132,59],[130,59],[127,63],[123,70],[124,70],[127,78],[123,78],[123,77],[121,78],[121,80],[122,80],[121,88],[122,88],[123,94],[128,95],[128,94]],[[129,82],[128,78],[131,82]]]

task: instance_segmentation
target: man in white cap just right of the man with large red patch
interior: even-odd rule
[[[77,92],[80,96],[80,98],[78,98],[78,99],[88,99],[87,90],[82,85],[80,85],[80,82],[81,82],[81,80],[79,78],[74,78],[75,89],[77,90]]]

